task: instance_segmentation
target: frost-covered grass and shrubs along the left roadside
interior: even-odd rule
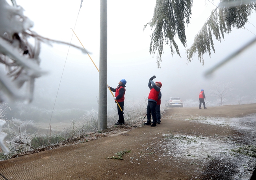
[[[138,127],[143,125],[142,119],[146,113],[146,105],[145,102],[127,102],[124,106],[124,126]],[[7,105],[2,107],[9,108]],[[2,110],[1,112],[5,111]],[[108,112],[108,129],[117,127],[114,125],[117,120],[117,107],[114,104]],[[36,151],[36,149],[52,148],[63,141],[68,142],[70,138],[76,136],[85,137],[85,141],[94,140],[97,138],[95,135],[101,133],[98,131],[98,112],[94,109],[87,111],[80,118],[71,118],[70,124],[65,123],[66,125],[62,126],[62,130],[54,129],[50,124],[48,129],[39,128],[33,120],[7,119],[2,116],[2,121],[5,122],[2,130],[7,134],[5,144],[9,148],[9,153],[4,155],[0,151],[0,160],[16,157],[19,153]],[[59,123],[61,124],[61,122]],[[91,136],[92,134],[93,136]]]

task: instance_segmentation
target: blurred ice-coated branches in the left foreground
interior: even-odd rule
[[[0,102],[7,100],[23,100],[31,102],[33,99],[35,78],[45,73],[40,69],[40,43],[61,43],[80,49],[85,49],[67,42],[52,40],[31,31],[33,22],[23,15],[24,9],[11,0],[0,0],[0,64],[6,69],[0,69]],[[82,5],[82,1],[81,1]],[[33,38],[35,44],[28,43]],[[20,89],[26,85],[25,92]]]

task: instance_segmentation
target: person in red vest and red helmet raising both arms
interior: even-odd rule
[[[156,76],[152,76],[149,79],[148,87],[150,89],[149,95],[148,95],[148,105],[147,105],[147,123],[144,123],[145,125],[151,125],[151,115],[153,119],[153,124],[151,127],[156,126],[157,118],[156,118],[156,104],[158,101],[158,95],[160,93],[160,87],[162,84],[160,82],[154,83],[153,79],[156,78]]]

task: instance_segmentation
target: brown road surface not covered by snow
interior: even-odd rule
[[[157,127],[144,125],[94,141],[81,141],[78,144],[2,161],[0,180],[231,180],[239,170],[238,167],[237,170],[232,167],[232,163],[224,164],[225,161],[217,158],[202,162],[191,158],[192,155],[188,155],[190,158],[178,156],[181,146],[174,146],[174,141],[171,144],[167,142],[166,135],[179,135],[183,138],[186,136],[187,139],[187,135],[195,135],[215,138],[214,140],[228,137],[234,144],[241,143],[239,136],[243,135],[236,129],[226,125],[196,122],[195,119],[235,118],[252,113],[256,113],[256,104],[226,105],[200,110],[186,107],[166,108],[161,124]],[[254,138],[255,133],[250,134],[250,137]],[[168,143],[173,147],[167,146]],[[125,150],[131,152],[124,153],[123,160],[109,159],[117,157],[115,153]],[[250,160],[255,162],[253,158]],[[250,169],[245,173],[252,175],[252,172],[253,169]]]

